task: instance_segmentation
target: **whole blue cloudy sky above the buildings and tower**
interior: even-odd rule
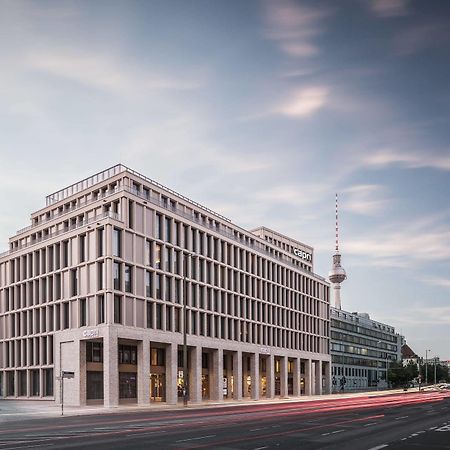
[[[123,163],[314,247],[343,309],[450,359],[450,3],[0,0],[0,251]]]

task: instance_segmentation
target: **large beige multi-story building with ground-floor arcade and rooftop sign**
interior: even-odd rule
[[[330,361],[311,247],[123,165],[49,195],[0,256],[3,397],[59,402],[63,374],[74,405],[320,394]]]

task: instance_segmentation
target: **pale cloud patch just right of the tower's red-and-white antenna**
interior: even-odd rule
[[[383,197],[384,187],[375,184],[352,186],[343,190],[343,209],[356,214],[373,216],[389,205]]]

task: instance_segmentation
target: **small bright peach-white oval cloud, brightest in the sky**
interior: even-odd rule
[[[290,117],[308,117],[325,106],[327,97],[328,89],[323,86],[301,88],[293,92],[277,112]]]

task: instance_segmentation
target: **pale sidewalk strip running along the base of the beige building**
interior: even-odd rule
[[[418,388],[410,388],[407,392],[418,392]],[[224,400],[223,402],[206,401],[203,403],[189,403],[189,410],[205,409],[209,407],[228,408],[233,406],[245,405],[267,405],[292,402],[317,402],[326,400],[348,399],[358,397],[377,397],[383,395],[392,395],[404,393],[403,389],[386,391],[367,391],[355,393],[336,393],[327,395],[312,395],[302,397],[274,398],[263,400]],[[105,408],[103,405],[87,406],[64,406],[64,416],[80,416],[89,414],[114,414],[136,411],[170,411],[183,410],[185,407],[182,402],[177,405],[167,405],[165,403],[152,403],[151,405],[124,404],[113,408]],[[44,417],[61,416],[61,405],[53,401],[46,400],[0,400],[0,427],[2,423],[18,419],[39,419]]]

